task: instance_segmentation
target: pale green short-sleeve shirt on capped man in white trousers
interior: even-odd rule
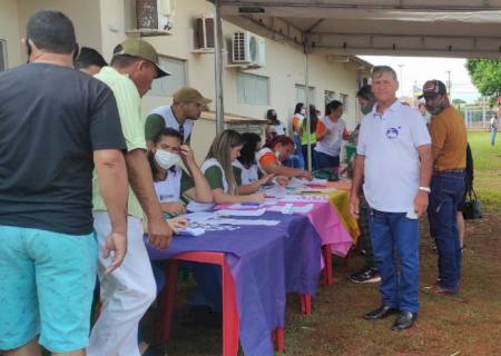
[[[120,115],[121,129],[127,144],[127,151],[135,149],[146,150],[145,126],[141,113],[141,98],[136,85],[126,76],[111,67],[104,67],[95,76],[106,83],[114,92]],[[97,176],[92,180],[92,205],[96,211],[106,211],[106,205],[99,191]],[[144,218],[139,200],[132,189],[129,188],[127,214],[138,219]]]

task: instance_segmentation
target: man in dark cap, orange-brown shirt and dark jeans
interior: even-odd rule
[[[424,83],[423,95],[431,113],[433,177],[428,218],[439,253],[439,280],[429,291],[454,294],[461,276],[461,244],[456,211],[464,192],[468,135],[460,112],[449,103],[445,85]]]

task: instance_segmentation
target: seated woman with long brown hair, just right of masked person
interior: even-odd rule
[[[264,195],[254,192],[238,195],[233,162],[239,157],[244,147],[244,138],[234,130],[225,130],[214,139],[202,171],[213,189],[215,204],[263,202]],[[188,210],[199,211],[214,207],[214,204],[196,204],[190,201]]]

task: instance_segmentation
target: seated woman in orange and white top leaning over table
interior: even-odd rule
[[[262,148],[256,156],[257,166],[267,175],[296,177],[312,180],[310,171],[282,165],[294,152],[294,141],[287,136],[277,136],[267,147]]]

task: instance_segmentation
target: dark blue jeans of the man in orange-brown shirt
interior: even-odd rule
[[[440,286],[456,289],[461,278],[461,246],[456,227],[458,206],[464,194],[464,172],[434,174],[428,219],[439,253]]]

